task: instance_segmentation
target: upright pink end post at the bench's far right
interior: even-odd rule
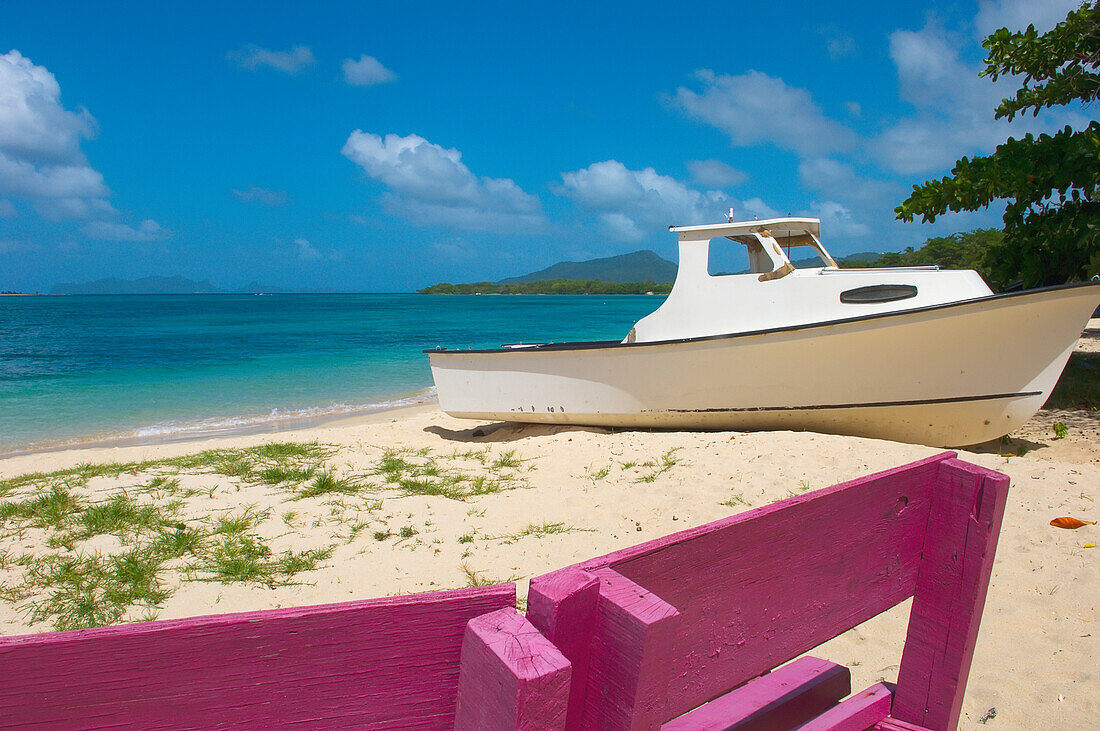
[[[1008,491],[1000,473],[958,459],[939,466],[892,718],[958,724]]]

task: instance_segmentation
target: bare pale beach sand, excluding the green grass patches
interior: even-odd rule
[[[1092,332],[1093,336],[1082,339],[1082,345],[1090,348],[1097,344],[1098,331]],[[1054,439],[1055,421],[1069,428],[1065,439]],[[484,468],[447,455],[487,447],[492,457],[514,450],[524,461],[518,469],[505,470],[517,476],[520,487],[464,501],[405,496],[384,487],[361,497],[289,500],[286,490],[268,486],[241,485],[220,475],[183,475],[183,486],[207,490],[187,500],[187,518],[246,505],[257,510],[271,508],[260,532],[274,551],[333,544],[336,549],[322,567],[298,577],[308,584],[274,589],[209,582],[178,584],[157,613],[166,619],[465,586],[463,564],[483,578],[529,578],[792,492],[939,452],[795,432],[610,433],[602,429],[492,425],[484,429],[484,435],[474,435],[479,427],[432,407],[419,407],[275,435],[23,455],[0,461],[0,477],[80,463],[155,459],[205,448],[312,440],[340,447],[331,459],[340,474],[369,472],[383,450],[394,446],[427,448],[442,466],[472,473]],[[1000,454],[1014,454],[1020,445],[1030,450],[1023,456]],[[659,463],[670,451],[676,463],[652,481],[641,481],[654,472],[641,465]],[[1085,544],[1100,543],[1100,532],[1097,527],[1067,531],[1048,523],[1066,514],[1094,520],[1100,512],[1096,503],[1100,491],[1100,418],[1085,412],[1043,412],[1013,434],[1010,444],[989,444],[960,456],[1012,478],[960,727],[1096,728],[1100,716],[1100,644],[1094,636],[1100,550]],[[631,462],[637,465],[624,468],[624,463]],[[604,468],[608,472],[601,476]],[[124,474],[94,478],[85,497],[101,499],[147,477]],[[287,518],[287,511],[296,514]],[[355,521],[363,523],[363,529],[349,540]],[[542,536],[521,534],[531,524],[546,523],[572,530]],[[399,534],[374,538],[375,532],[399,533],[403,528],[416,532],[405,539]],[[4,538],[0,552],[18,556],[45,551],[43,539],[31,531]],[[118,541],[100,536],[78,549],[110,552],[118,549]],[[11,583],[16,576],[16,568],[0,571],[0,580],[7,577]],[[520,582],[520,594],[525,591]],[[908,603],[902,605],[815,654],[849,665],[856,689],[883,678],[894,680],[908,609]],[[16,606],[0,601],[0,634],[48,629],[48,624],[28,625]],[[990,708],[997,709],[997,718],[979,726],[978,719]]]

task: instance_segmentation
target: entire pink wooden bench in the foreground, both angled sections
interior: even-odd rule
[[[526,616],[506,584],[0,638],[0,728],[949,729],[1007,490],[945,453],[539,577]],[[895,687],[799,658],[909,597]]]

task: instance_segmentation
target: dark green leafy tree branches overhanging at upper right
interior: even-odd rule
[[[1015,97],[996,119],[1033,115],[1050,107],[1090,104],[1100,95],[1100,2],[1070,12],[1052,31],[1034,25],[1001,29],[982,42],[982,76],[1020,76]],[[1009,137],[991,155],[955,164],[950,177],[913,186],[898,218],[934,221],[947,211],[974,211],[1007,201],[1004,239],[985,259],[987,278],[1027,286],[1058,284],[1100,273],[1100,123],[1054,134]],[[979,267],[980,268],[980,267]]]

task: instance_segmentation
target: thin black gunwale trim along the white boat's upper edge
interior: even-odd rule
[[[1069,289],[1085,289],[1087,287],[1100,287],[1100,281],[1088,280],[1088,281],[1075,281],[1065,285],[1054,285],[1052,287],[1036,287],[1034,289],[1025,289],[1018,292],[1001,292],[998,295],[988,295],[986,297],[974,297],[970,299],[957,300],[954,302],[942,302],[939,304],[925,304],[924,307],[915,307],[906,310],[893,310],[891,312],[875,312],[870,314],[861,314],[854,318],[840,318],[837,320],[823,320],[822,322],[805,322],[794,325],[783,325],[780,328],[767,328],[763,330],[748,330],[745,332],[735,333],[721,333],[717,335],[695,335],[693,337],[675,337],[670,340],[652,340],[644,342],[626,343],[617,340],[595,340],[595,341],[579,341],[579,342],[564,342],[564,343],[537,343],[531,345],[526,345],[524,347],[485,347],[485,348],[470,348],[470,350],[459,350],[459,348],[444,348],[444,347],[431,347],[425,348],[422,352],[428,355],[473,355],[473,354],[488,354],[488,353],[546,353],[553,351],[598,351],[598,350],[618,350],[624,347],[647,347],[653,345],[676,345],[676,344],[688,344],[688,343],[704,343],[708,341],[716,340],[733,340],[736,337],[749,337],[751,335],[767,335],[772,333],[781,332],[798,332],[800,330],[811,330],[813,328],[825,328],[829,325],[847,324],[853,322],[862,322],[868,320],[881,320],[883,318],[894,318],[902,314],[913,314],[917,312],[933,312],[936,310],[946,310],[953,307],[963,307],[966,304],[975,304],[977,302],[988,302],[991,300],[1007,300],[1014,298],[1032,297],[1035,295],[1042,295],[1052,291],[1069,290]]]

